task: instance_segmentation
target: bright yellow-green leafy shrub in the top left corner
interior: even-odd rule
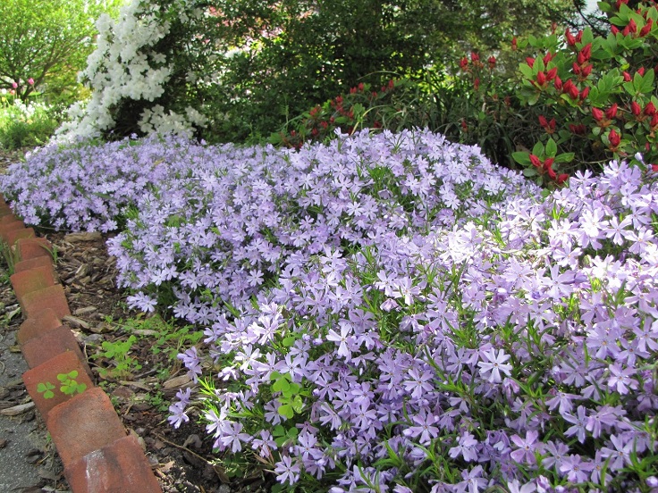
[[[122,0],[3,0],[0,2],[0,88],[26,99],[37,88],[61,98],[94,44],[94,21]],[[29,79],[34,82],[29,83]],[[74,91],[74,98],[78,96]],[[71,99],[66,98],[66,102]]]

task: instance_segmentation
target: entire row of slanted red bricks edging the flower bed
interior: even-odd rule
[[[52,246],[13,214],[0,194],[0,238],[13,258],[12,287],[25,318],[16,339],[30,370],[25,387],[46,422],[73,493],[162,493],[144,451],[129,435],[62,319],[71,314],[56,281]],[[64,395],[57,375],[78,372],[86,389]],[[50,382],[53,397],[39,384]]]

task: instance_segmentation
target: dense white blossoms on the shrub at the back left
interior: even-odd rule
[[[181,0],[178,7],[187,2]],[[97,48],[89,55],[87,69],[80,72],[80,79],[92,89],[91,98],[86,106],[71,109],[72,120],[57,131],[56,140],[97,137],[114,127],[112,111],[122,99],[153,102],[164,94],[173,65],[167,63],[165,54],[152,49],[170,30],[159,11],[159,5],[148,0],[132,0],[122,7],[119,21],[106,14],[97,20]],[[138,124],[148,133],[189,135],[192,125],[203,126],[205,122],[205,117],[192,108],[181,115],[165,112],[156,104],[140,115]]]

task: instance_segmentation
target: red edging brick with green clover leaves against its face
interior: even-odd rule
[[[38,412],[46,419],[56,405],[63,404],[64,402],[72,400],[74,397],[67,396],[60,391],[60,381],[57,380],[57,375],[61,373],[69,373],[73,370],[78,372],[78,377],[75,379],[78,383],[87,385],[87,389],[83,394],[87,393],[93,387],[89,375],[85,372],[80,359],[72,351],[61,353],[54,358],[50,358],[46,363],[39,364],[37,367],[23,373],[23,381],[25,388],[28,389],[34,405],[37,406]],[[55,386],[53,389],[54,397],[46,399],[42,393],[37,391],[39,383],[50,382]],[[81,395],[83,395],[81,394]]]

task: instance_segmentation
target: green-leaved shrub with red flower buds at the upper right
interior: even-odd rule
[[[610,15],[606,38],[591,29],[530,38],[536,55],[519,65],[519,97],[540,110],[541,137],[530,152],[514,155],[528,177],[561,183],[574,158],[576,168],[594,169],[611,158],[632,161],[637,152],[647,165],[658,160],[658,8],[651,2],[632,10],[628,0],[600,7]]]

